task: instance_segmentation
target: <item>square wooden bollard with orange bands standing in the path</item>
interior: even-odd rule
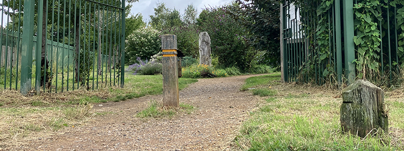
[[[179,107],[177,36],[163,35],[161,47],[163,49],[163,105],[177,108]]]

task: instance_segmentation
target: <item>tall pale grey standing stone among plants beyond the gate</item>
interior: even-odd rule
[[[212,65],[211,37],[207,32],[199,34],[199,64]]]

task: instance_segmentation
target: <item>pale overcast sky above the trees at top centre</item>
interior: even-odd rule
[[[141,13],[143,16],[143,20],[145,22],[150,21],[150,15],[154,15],[157,3],[166,3],[166,7],[170,9],[179,10],[181,15],[184,14],[185,8],[193,4],[196,8],[198,13],[205,9],[205,6],[209,7],[212,6],[220,6],[224,4],[228,4],[231,0],[139,0],[139,2],[133,3],[132,10],[130,11],[132,15],[136,15],[137,13]]]

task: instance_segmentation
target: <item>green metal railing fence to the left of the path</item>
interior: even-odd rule
[[[27,94],[32,86],[36,93],[124,86],[124,1],[35,3],[3,0],[0,6],[2,89]]]

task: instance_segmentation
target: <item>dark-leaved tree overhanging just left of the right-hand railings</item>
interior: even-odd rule
[[[254,47],[265,51],[267,64],[280,64],[279,47],[279,0],[236,0],[230,13],[251,33],[249,41]]]

